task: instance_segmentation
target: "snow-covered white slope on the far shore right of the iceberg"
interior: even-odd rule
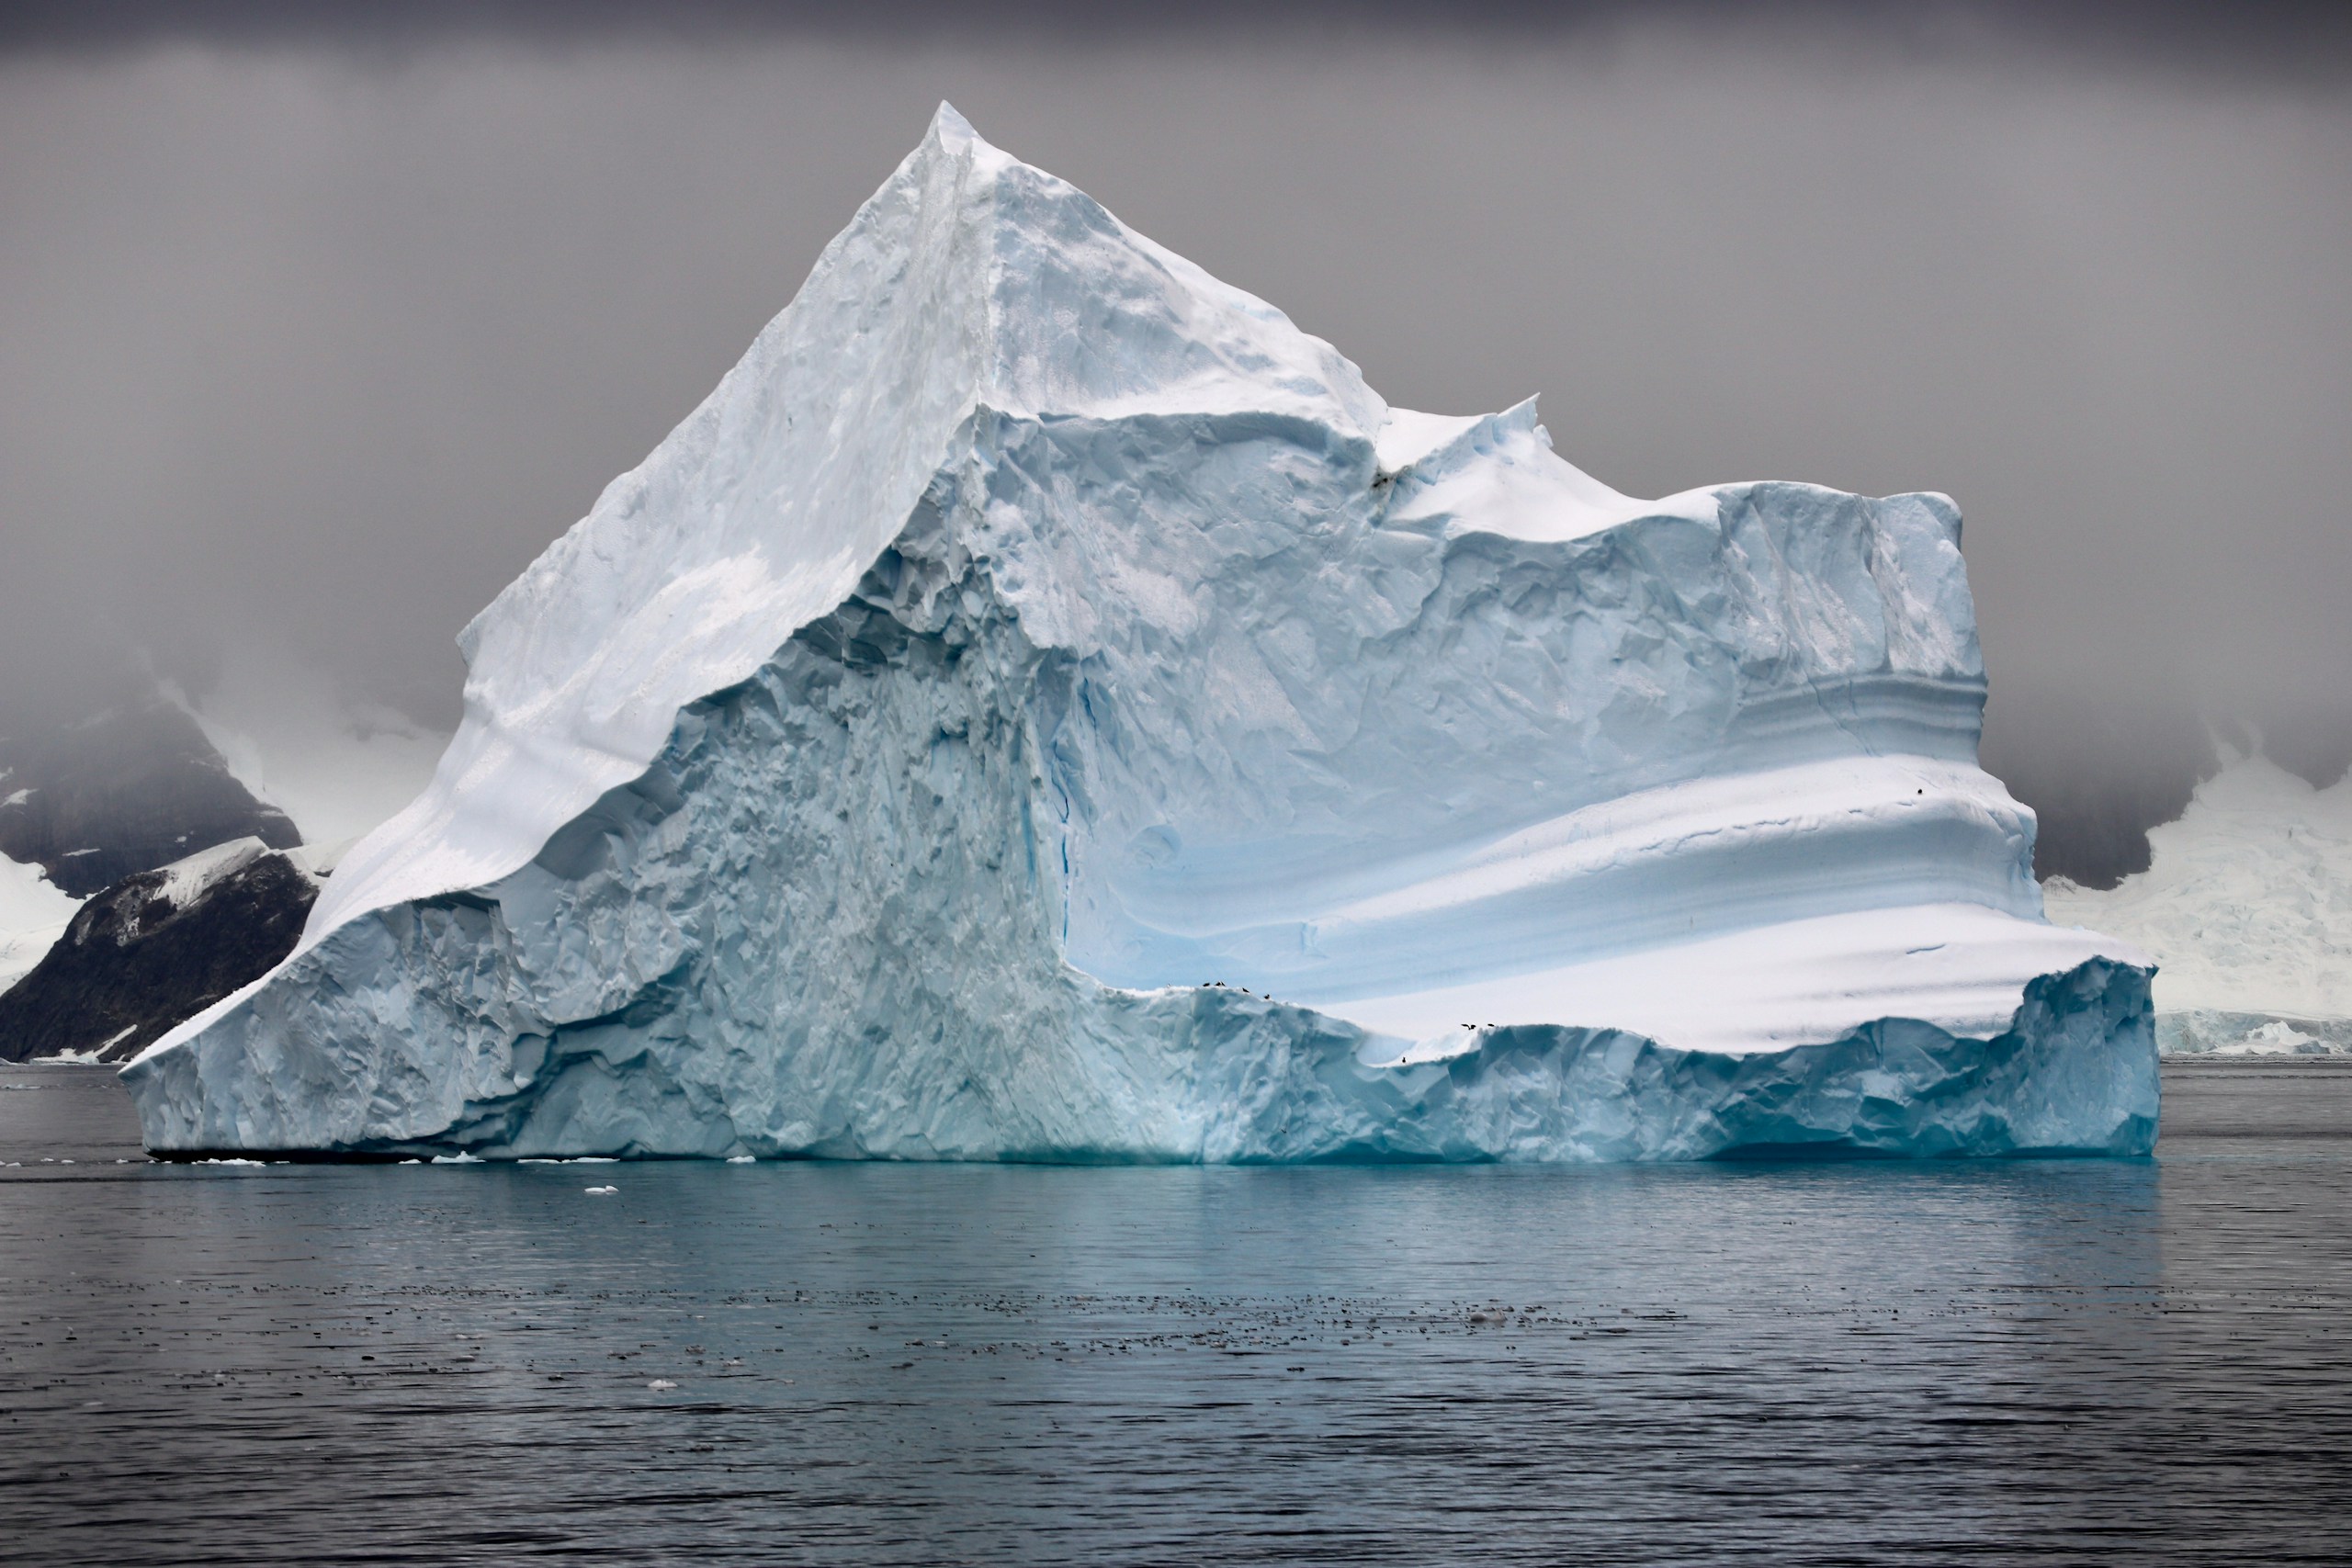
[[[2147,844],[2145,872],[2107,891],[2051,879],[2044,900],[2058,924],[2154,954],[2169,1046],[2352,1044],[2352,1030],[2314,1027],[2352,1020],[2352,778],[2314,790],[2260,755],[2225,752]]]

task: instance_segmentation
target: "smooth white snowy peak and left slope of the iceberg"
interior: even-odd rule
[[[856,588],[978,409],[1383,414],[1327,343],[943,103],[743,362],[466,628],[433,788],[346,860],[306,943],[513,872],[635,778],[680,708]]]

